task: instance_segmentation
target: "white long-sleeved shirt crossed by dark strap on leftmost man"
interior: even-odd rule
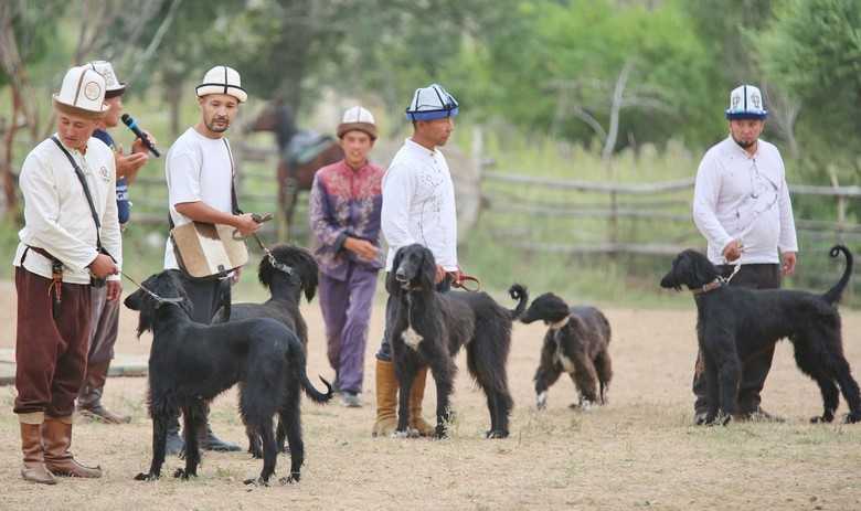
[[[117,220],[116,163],[114,152],[102,140],[91,138],[86,155],[66,148],[77,162],[89,187],[96,214],[102,223],[102,245],[123,267],[123,242]],[[24,196],[24,227],[12,262],[21,266],[28,245],[47,251],[63,263],[63,281],[89,284],[87,266],[96,258],[96,224],[84,189],[68,158],[53,140],[45,139],[26,156],[19,185]],[[28,272],[51,278],[51,260],[28,251],[23,264]],[[111,275],[109,280],[119,280]]]

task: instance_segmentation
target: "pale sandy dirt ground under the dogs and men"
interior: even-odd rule
[[[0,348],[12,344],[13,296],[2,287]],[[310,323],[308,373],[331,375],[317,305],[305,307]],[[457,379],[458,419],[450,439],[371,438],[374,417],[373,352],[382,309],[373,315],[365,363],[364,407],[304,402],[307,461],[293,486],[249,488],[261,462],[242,454],[208,454],[195,480],[170,477],[181,465],[170,458],[157,482],[132,477],[150,460],[150,422],[142,405],[144,379],[110,379],[107,404],[134,417],[130,425],[78,422],[73,450],[99,464],[100,480],[62,480],[55,487],[26,483],[19,476],[13,387],[0,387],[0,509],[861,509],[861,426],[812,426],[820,412],[815,384],[794,366],[782,343],[764,393],[764,405],[786,424],[691,425],[690,381],[695,343],[693,304],[685,310],[606,310],[614,329],[615,379],[608,406],[568,408],[573,385],[561,380],[545,412],[534,409],[534,373],[542,326],[518,324],[509,359],[515,401],[511,437],[485,440],[489,419],[482,394],[465,369]],[[137,318],[124,310],[117,350],[147,353],[150,338],[137,340]],[[843,317],[850,362],[861,366],[861,313]],[[858,375],[859,371],[857,371]],[[431,416],[433,390],[425,396]],[[236,395],[216,400],[213,426],[244,444]],[[846,412],[844,405],[840,412]],[[287,472],[281,456],[278,476]]]

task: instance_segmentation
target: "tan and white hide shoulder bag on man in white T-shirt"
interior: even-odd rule
[[[170,236],[180,268],[193,278],[222,277],[248,263],[245,241],[230,225],[190,222],[173,227]]]

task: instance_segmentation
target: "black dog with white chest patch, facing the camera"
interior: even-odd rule
[[[527,307],[527,289],[517,284],[511,286],[509,295],[520,301],[514,310],[508,310],[485,292],[437,292],[435,275],[433,253],[416,244],[397,251],[386,280],[396,308],[392,323],[386,326],[401,388],[395,435],[410,435],[411,386],[418,369],[428,365],[436,382],[436,436],[446,436],[446,423],[451,418],[449,397],[457,371],[454,358],[465,347],[469,373],[487,396],[490,411],[487,437],[504,438],[513,405],[506,374],[511,322]]]

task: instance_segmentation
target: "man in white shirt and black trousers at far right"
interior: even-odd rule
[[[709,242],[709,259],[724,277],[732,276],[731,286],[775,289],[782,274],[795,272],[798,242],[784,161],[775,146],[759,139],[767,114],[757,87],[735,88],[726,110],[730,136],[709,149],[697,171],[693,220]],[[759,406],[773,358],[770,344],[742,361],[736,418],[780,420]],[[698,424],[708,411],[703,369],[698,355],[693,376]]]

